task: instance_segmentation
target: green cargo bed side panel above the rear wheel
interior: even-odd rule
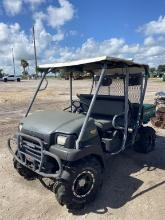
[[[156,106],[153,104],[143,104],[143,124],[147,124],[155,116]]]

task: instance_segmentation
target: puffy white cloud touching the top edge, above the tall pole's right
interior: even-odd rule
[[[74,16],[74,7],[67,0],[59,0],[60,7],[47,8],[47,22],[52,28],[59,28]]]

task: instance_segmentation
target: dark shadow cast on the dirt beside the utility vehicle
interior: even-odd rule
[[[165,184],[165,180],[158,182],[152,187],[133,195],[143,184],[143,181],[138,179],[138,175],[142,172],[148,172],[147,175],[150,175],[150,172],[155,169],[165,170],[165,137],[158,136],[156,149],[149,154],[139,154],[133,150],[128,150],[113,157],[107,165],[104,184],[95,202],[73,214],[83,215],[90,212],[104,214],[108,208],[118,209],[127,202]],[[134,177],[131,176],[136,172],[139,173],[135,174]]]

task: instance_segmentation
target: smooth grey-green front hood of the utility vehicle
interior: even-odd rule
[[[55,132],[79,134],[85,116],[70,112],[35,112],[22,120],[22,131],[50,135]]]

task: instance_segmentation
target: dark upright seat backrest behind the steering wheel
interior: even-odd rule
[[[82,103],[90,104],[93,95],[79,94],[77,95]],[[83,104],[82,104],[83,105]],[[111,117],[124,112],[124,96],[107,96],[98,95],[92,111],[93,116]],[[87,106],[84,104],[83,108],[87,111]]]

